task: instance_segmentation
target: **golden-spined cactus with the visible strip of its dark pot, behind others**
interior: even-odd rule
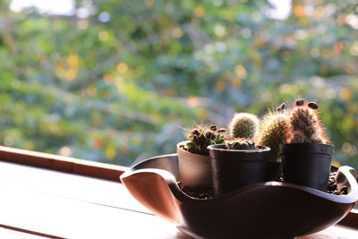
[[[275,111],[268,111],[260,121],[257,142],[271,149],[266,162],[265,181],[280,181],[282,175],[279,145],[287,141],[289,123],[285,107],[286,104],[282,103]]]

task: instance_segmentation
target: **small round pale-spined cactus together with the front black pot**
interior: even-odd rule
[[[225,143],[208,147],[215,194],[263,181],[262,158],[269,149],[256,146],[253,141],[259,123],[256,115],[237,113],[228,125],[229,138]]]

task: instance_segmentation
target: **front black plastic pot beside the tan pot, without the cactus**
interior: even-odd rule
[[[224,144],[210,145],[209,156],[214,192],[230,192],[246,184],[264,182],[268,147],[256,150],[225,149]]]

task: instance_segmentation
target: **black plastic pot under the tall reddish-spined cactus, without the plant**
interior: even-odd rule
[[[284,182],[326,191],[335,148],[328,144],[280,145]]]

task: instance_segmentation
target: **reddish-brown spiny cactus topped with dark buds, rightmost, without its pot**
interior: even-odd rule
[[[296,100],[289,112],[289,143],[329,143],[320,122],[318,107],[315,102],[308,103],[303,98]]]

